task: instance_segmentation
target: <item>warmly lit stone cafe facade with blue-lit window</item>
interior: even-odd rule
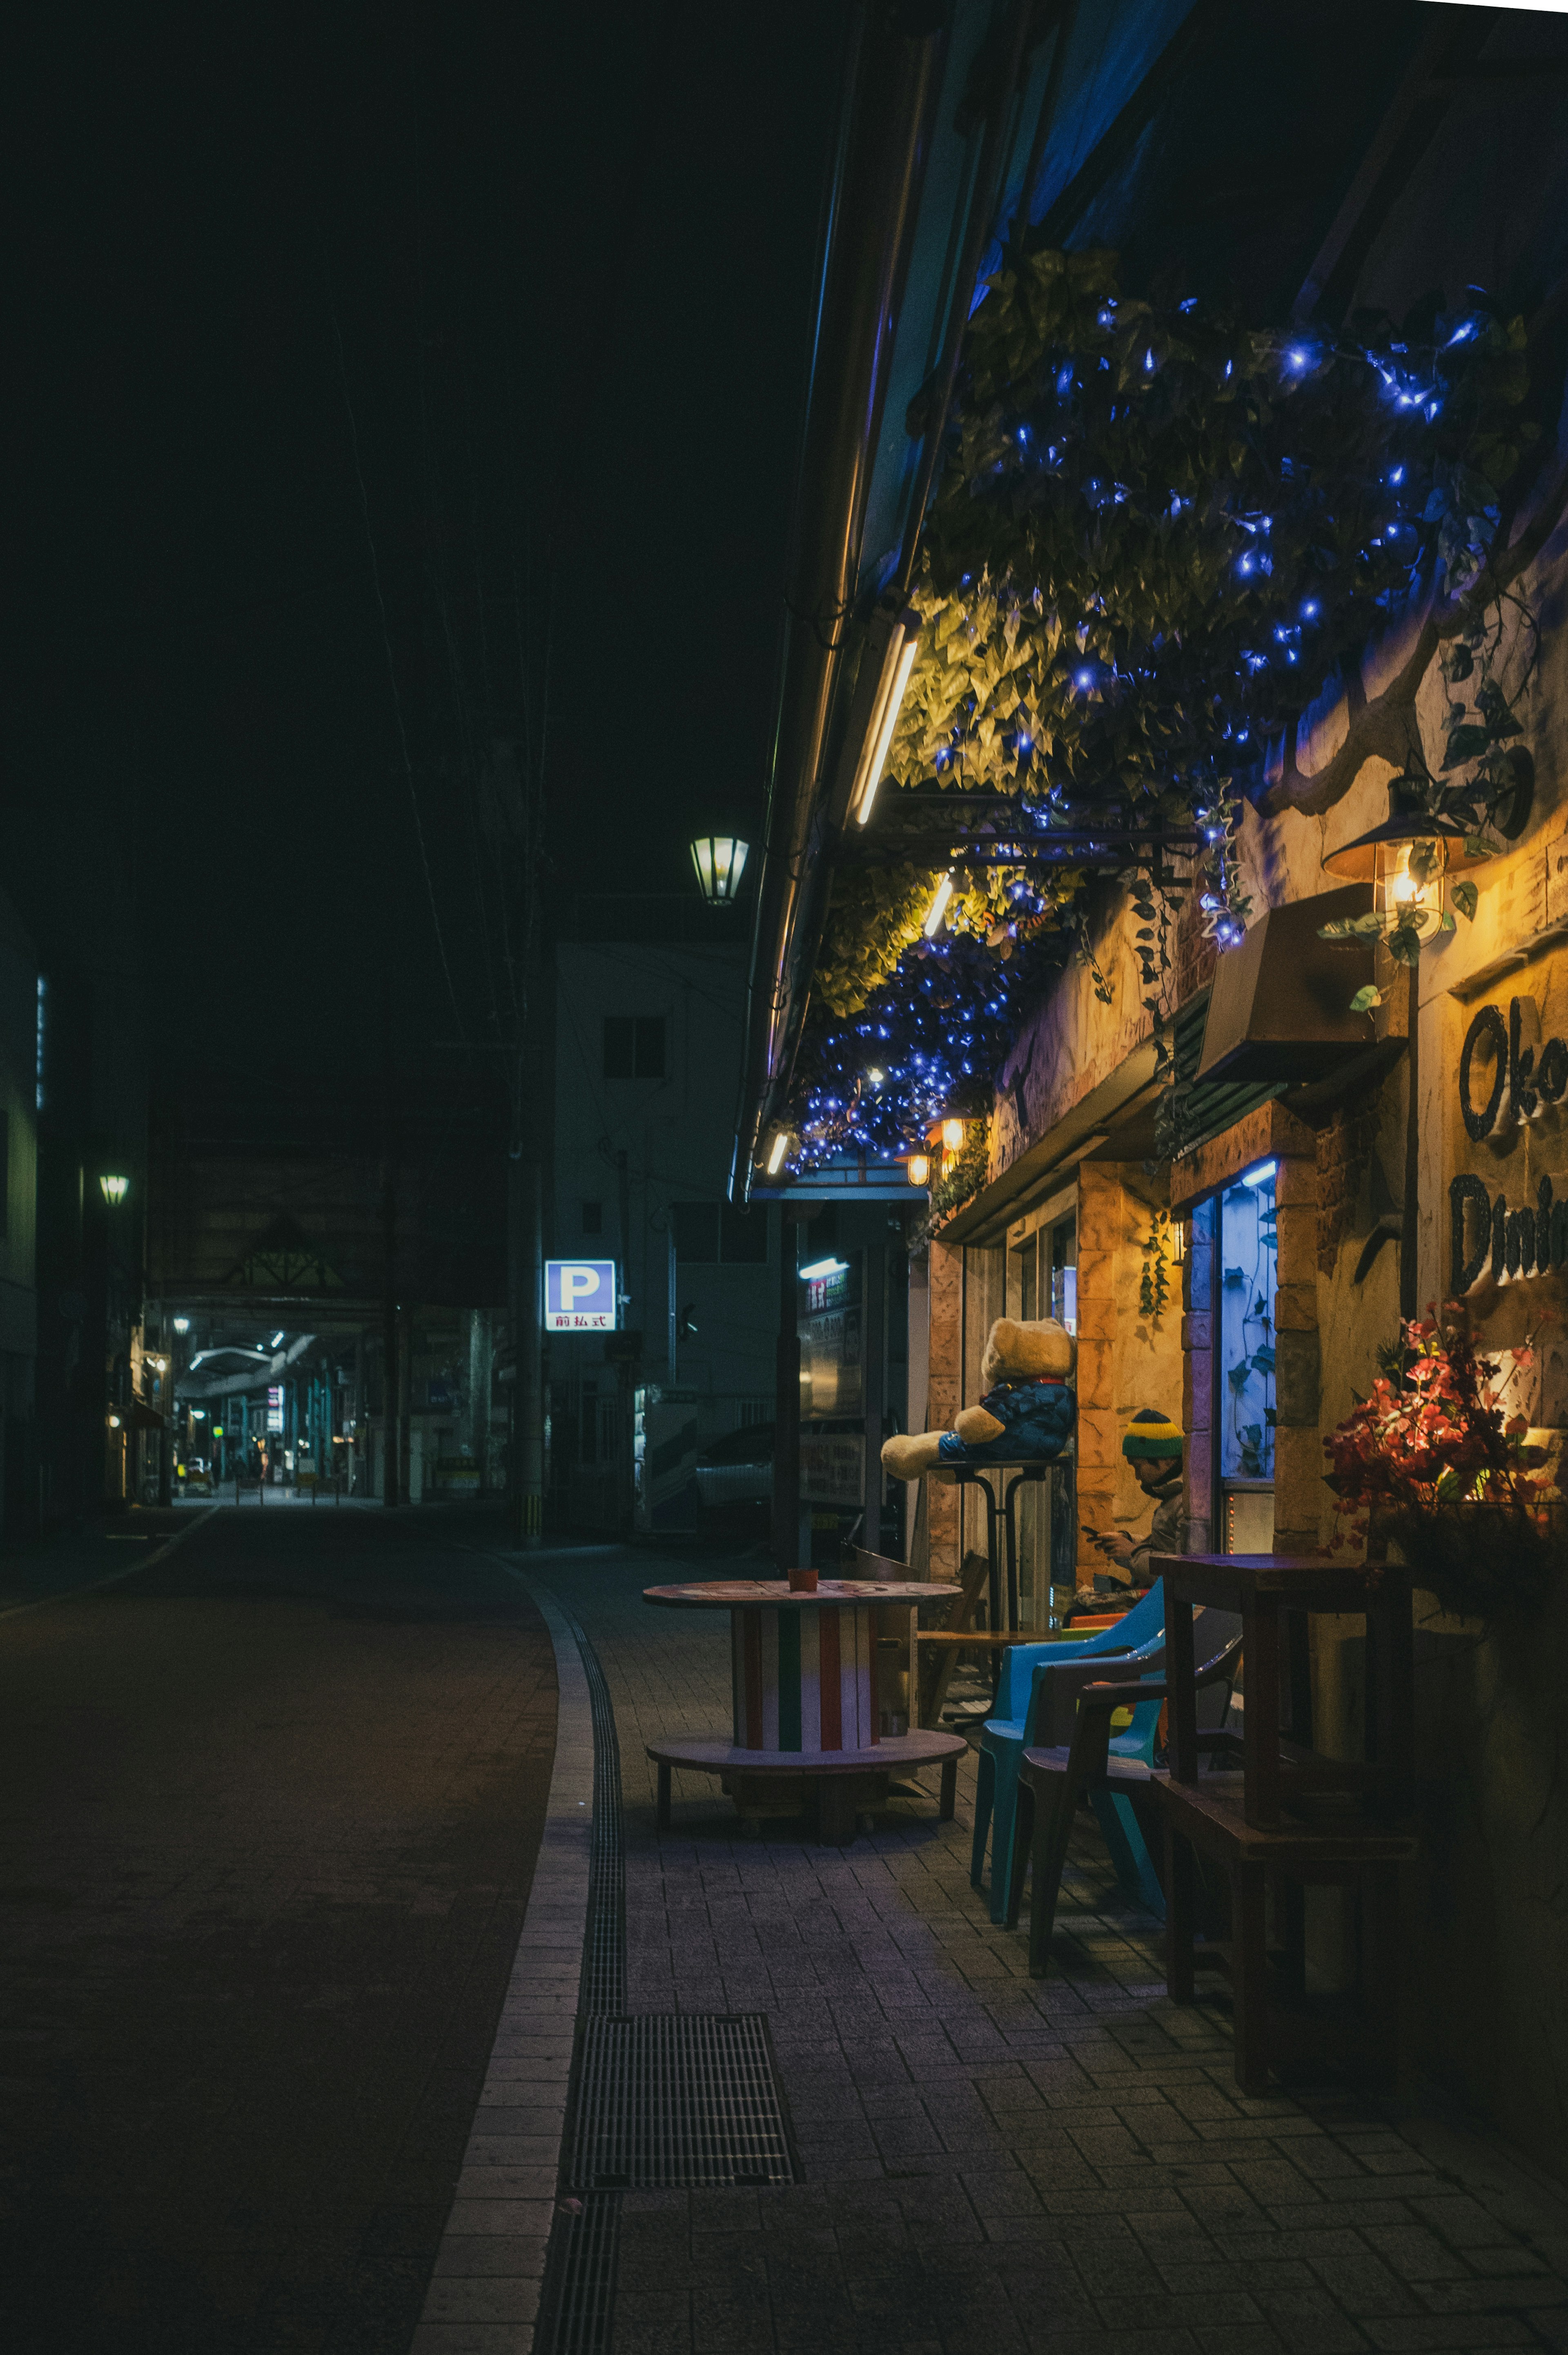
[[[1552,612],[1568,532],[1523,598]],[[1417,714],[1436,735],[1434,659]],[[1057,1314],[1078,1338],[1076,1500],[1024,1543],[1024,1613],[1045,1625],[1104,1559],[1088,1531],[1147,1528],[1121,1455],[1128,1418],[1182,1420],[1184,1550],[1316,1554],[1342,1538],[1323,1439],[1377,1380],[1401,1316],[1462,1321],[1500,1359],[1504,1406],[1556,1448],[1568,1425],[1568,643],[1542,636],[1519,699],[1530,791],[1474,867],[1474,914],[1413,970],[1323,921],[1373,907],[1337,850],[1389,812],[1368,758],[1333,805],[1248,805],[1245,942],[1224,956],[1187,897],[1163,1043],[1140,1006],[1132,902],[1107,888],[1088,958],[1019,1027],[986,1130],[986,1175],[911,1267],[911,1427],[979,1397],[996,1314]],[[1344,706],[1318,742],[1349,730]],[[1300,775],[1302,770],[1297,770]],[[1307,796],[1302,796],[1307,798]],[[1180,893],[1177,893],[1180,897]],[[1358,989],[1377,991],[1351,1013]],[[1109,1003],[1107,1003],[1109,1001]],[[923,1335],[916,1333],[923,1324]],[[1057,1514],[1062,1524],[1062,1514]],[[972,1493],[911,1512],[918,1568],[984,1545]],[[921,1545],[925,1547],[921,1552]],[[1351,1559],[1358,1557],[1351,1545]],[[1568,2084],[1568,1795],[1559,1776],[1568,1578],[1528,1623],[1446,1613],[1415,1583],[1420,1858],[1406,1903],[1410,2058],[1561,2171]],[[1055,1587],[1055,1597],[1050,1590]],[[1300,1731],[1328,1757],[1363,1736],[1366,1627],[1309,1620]],[[1300,1674],[1300,1672],[1297,1672]],[[1344,1966],[1318,1908],[1309,1955]],[[1455,1992],[1464,1990],[1464,2002]]]

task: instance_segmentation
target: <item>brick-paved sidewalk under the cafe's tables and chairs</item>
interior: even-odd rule
[[[972,1766],[954,1825],[909,1799],[845,1851],[746,1839],[676,1776],[659,1842],[643,1743],[723,1729],[730,1656],[640,1590],[723,1564],[532,1573],[614,1698],[631,2009],[768,2011],[805,2162],[786,2193],[626,2197],[617,2355],[1568,2348],[1563,2197],[1413,2105],[1236,2094],[1229,2018],[1168,2004],[1088,1837],[1031,1981],[970,1889]]]

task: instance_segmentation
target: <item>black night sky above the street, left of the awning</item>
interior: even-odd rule
[[[476,747],[546,669],[563,914],[756,829],[841,21],[35,12],[12,890],[134,900],[165,1095],[494,1031]]]

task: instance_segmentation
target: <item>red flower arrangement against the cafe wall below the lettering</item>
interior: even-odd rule
[[[1370,1394],[1323,1441],[1342,1517],[1333,1550],[1370,1540],[1380,1554],[1391,1538],[1415,1580],[1467,1618],[1537,1608],[1563,1531],[1549,1453],[1504,1406],[1530,1364],[1530,1347],[1483,1356],[1436,1312],[1410,1319]],[[1370,1559],[1368,1575],[1377,1568]]]

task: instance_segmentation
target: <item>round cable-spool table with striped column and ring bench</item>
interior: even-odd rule
[[[723,1776],[742,1813],[765,1813],[768,1785],[817,1785],[817,1837],[843,1846],[855,1816],[883,1799],[888,1776],[942,1766],[939,1816],[958,1787],[958,1733],[883,1733],[876,1696],[876,1611],[885,1604],[951,1601],[951,1587],[824,1578],[796,1594],[782,1578],[706,1578],[645,1587],[643,1599],[676,1611],[730,1613],[730,1740],[647,1743],[659,1769],[659,1830],[669,1830],[673,1766]],[[859,1802],[859,1804],[857,1804]]]

